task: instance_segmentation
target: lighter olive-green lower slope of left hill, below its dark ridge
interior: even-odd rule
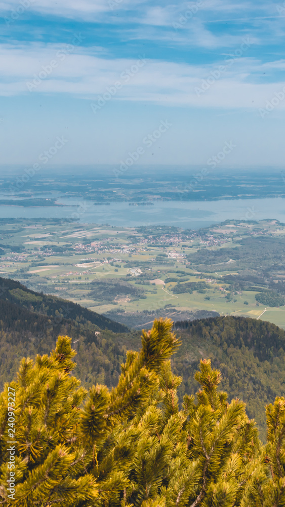
[[[86,386],[96,382],[115,385],[126,348],[135,342],[131,333],[100,330],[88,320],[63,318],[61,314],[50,318],[0,301],[0,387],[13,378],[23,354],[47,353],[60,334],[72,337],[77,351],[75,375]]]

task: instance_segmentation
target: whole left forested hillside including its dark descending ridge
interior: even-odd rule
[[[23,354],[49,352],[60,334],[72,337],[77,351],[75,375],[86,386],[115,385],[126,348],[135,341],[125,325],[70,301],[30,291],[15,280],[1,279],[0,387],[13,378]]]

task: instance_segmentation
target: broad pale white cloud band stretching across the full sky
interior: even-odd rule
[[[218,78],[212,71],[224,61],[212,65],[189,65],[159,60],[147,60],[141,67],[133,67],[133,76],[127,77],[125,71],[136,65],[136,59],[108,59],[100,56],[98,48],[87,53],[86,48],[74,48],[64,61],[65,45],[3,45],[0,46],[0,66],[2,82],[0,94],[4,96],[29,93],[27,82],[33,83],[34,76],[47,69],[51,61],[55,68],[46,78],[32,87],[31,93],[72,94],[84,99],[96,101],[98,95],[107,91],[107,87],[120,81],[121,88],[113,100],[150,102],[169,106],[257,108],[264,107],[267,100],[274,97],[284,86],[283,82],[256,83],[256,75],[263,68],[279,69],[284,61],[262,64],[253,58],[236,58],[229,68]],[[142,55],[143,56],[143,55]],[[124,74],[122,74],[124,73]],[[45,75],[45,71],[42,76]],[[252,75],[254,80],[251,79]],[[216,74],[217,76],[217,74]],[[202,89],[202,80],[212,84]],[[205,85],[207,88],[207,84]],[[280,103],[280,107],[285,106]]]

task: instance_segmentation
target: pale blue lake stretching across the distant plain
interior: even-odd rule
[[[51,196],[49,196],[51,197]],[[65,206],[0,205],[1,218],[75,218],[80,223],[121,227],[173,225],[188,229],[209,227],[229,219],[277,219],[285,222],[285,199],[221,199],[217,201],[156,201],[153,206],[129,206],[128,202],[94,205],[92,201],[59,198]]]

